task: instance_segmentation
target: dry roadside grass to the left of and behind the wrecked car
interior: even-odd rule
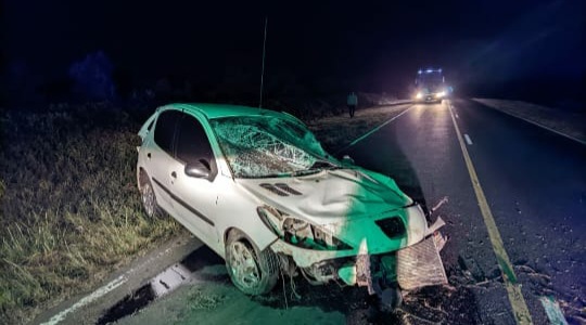
[[[309,126],[333,151],[404,109],[359,109]],[[136,132],[152,109],[136,113],[90,104],[0,117],[0,323],[28,323],[91,290],[179,230],[142,211]]]

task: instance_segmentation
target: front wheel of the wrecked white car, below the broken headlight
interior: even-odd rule
[[[226,268],[234,286],[251,296],[272,290],[279,275],[277,255],[269,248],[259,251],[242,232],[235,230],[226,240]]]

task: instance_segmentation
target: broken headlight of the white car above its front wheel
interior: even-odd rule
[[[260,220],[279,238],[291,245],[314,250],[345,250],[351,246],[332,236],[331,233],[305,220],[292,218],[272,207],[256,209]]]

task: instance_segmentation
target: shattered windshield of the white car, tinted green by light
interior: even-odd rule
[[[318,170],[318,165],[335,166],[315,135],[300,122],[237,116],[213,119],[211,125],[237,178],[291,176]]]

